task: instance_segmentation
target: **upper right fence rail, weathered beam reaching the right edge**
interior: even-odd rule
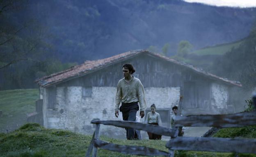
[[[176,116],[175,126],[243,127],[256,125],[256,112],[229,115]]]

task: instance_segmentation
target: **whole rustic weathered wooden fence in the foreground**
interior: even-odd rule
[[[256,154],[256,139],[242,138],[217,138],[217,137],[178,137],[178,128],[169,129],[161,126],[142,124],[130,121],[101,121],[93,119],[96,130],[91,139],[86,156],[96,157],[97,149],[111,150],[123,154],[144,156],[168,156],[174,157],[174,150],[195,150],[210,152],[232,152]],[[147,148],[144,146],[125,146],[112,144],[99,139],[100,124],[112,125],[121,128],[135,128],[137,130],[149,131],[158,135],[171,137],[166,147],[169,152]],[[213,126],[213,127],[242,127],[256,125],[256,112],[235,113],[229,115],[190,115],[177,116],[175,126]]]

